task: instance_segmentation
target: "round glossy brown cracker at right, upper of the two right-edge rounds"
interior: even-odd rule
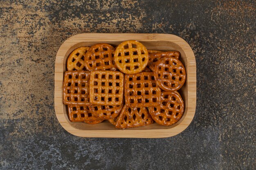
[[[177,91],[186,80],[186,71],[180,60],[163,57],[155,64],[154,77],[164,91]]]

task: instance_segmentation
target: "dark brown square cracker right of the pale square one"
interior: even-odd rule
[[[160,104],[161,89],[153,72],[125,75],[125,102],[130,107],[150,107]]]

